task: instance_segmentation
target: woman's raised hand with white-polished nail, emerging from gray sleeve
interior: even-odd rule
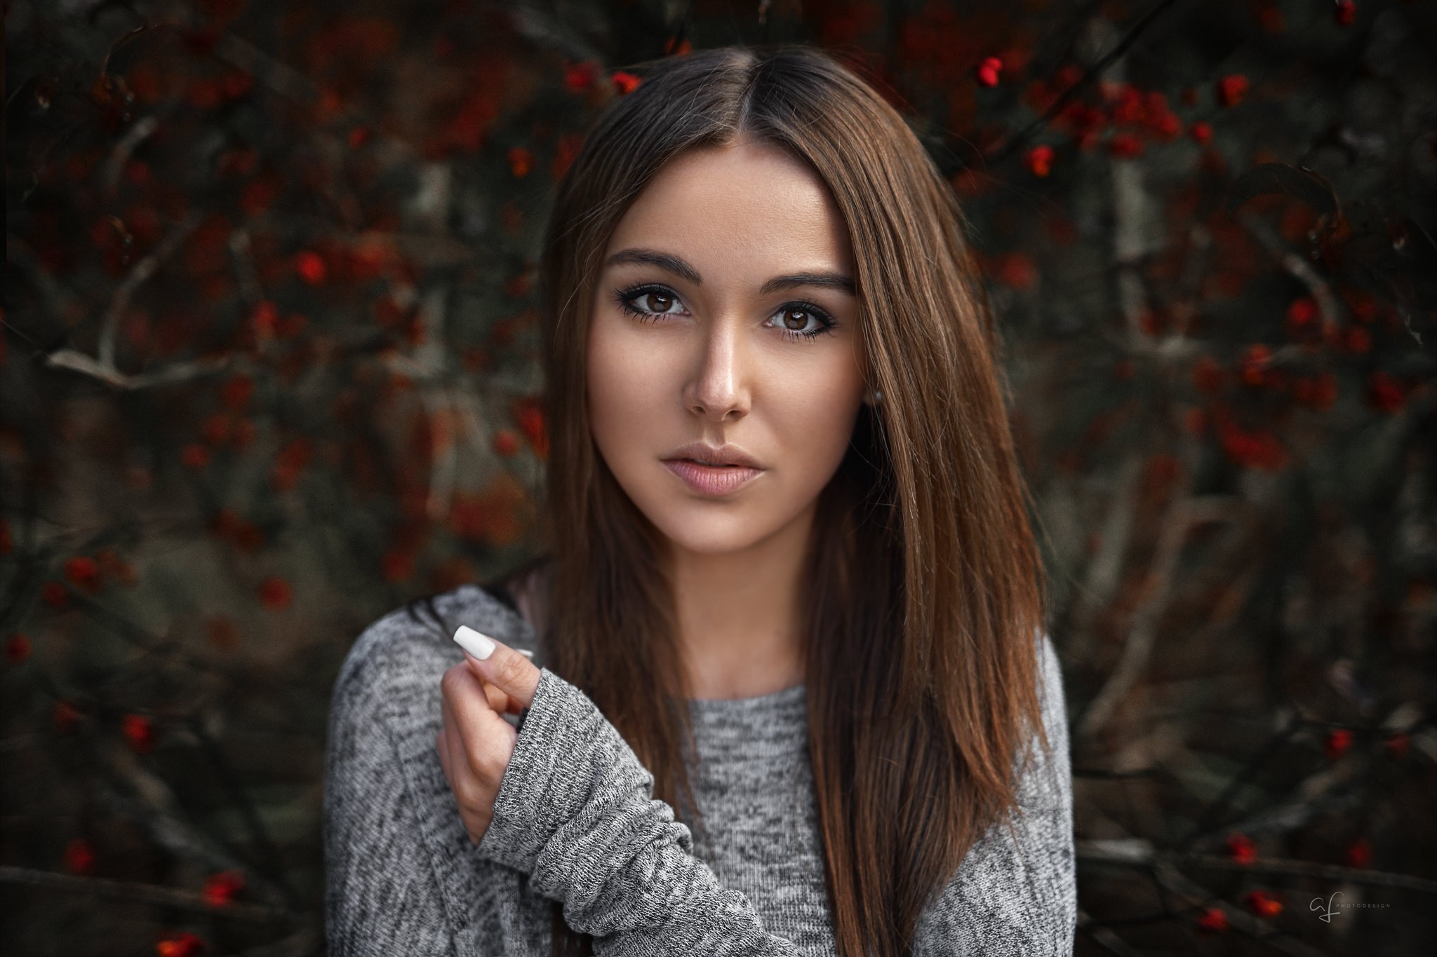
[[[458,816],[477,847],[494,816],[494,798],[519,739],[502,715],[517,715],[533,702],[540,673],[514,649],[470,628],[463,634],[464,661],[444,671],[440,682],[444,726],[434,746]],[[490,653],[480,660],[470,650]]]

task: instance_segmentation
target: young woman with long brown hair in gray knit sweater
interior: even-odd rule
[[[1069,953],[1062,682],[951,189],[821,53],[642,73],[540,263],[547,554],[336,683],[329,944]]]

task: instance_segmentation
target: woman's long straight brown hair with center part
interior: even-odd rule
[[[802,607],[838,951],[897,957],[974,839],[1015,806],[1025,745],[1036,735],[1048,749],[1040,565],[961,214],[902,116],[821,52],[727,47],[634,69],[642,83],[559,185],[540,260],[547,666],[703,834],[660,532],[589,432],[589,304],[614,228],[664,164],[740,135],[783,149],[848,224],[862,367],[882,392],[819,496]],[[592,943],[558,907],[555,930],[556,953]]]

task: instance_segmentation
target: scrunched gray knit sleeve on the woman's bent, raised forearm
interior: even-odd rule
[[[593,702],[542,669],[479,854],[529,874],[601,956],[796,957],[652,795],[654,776]]]

